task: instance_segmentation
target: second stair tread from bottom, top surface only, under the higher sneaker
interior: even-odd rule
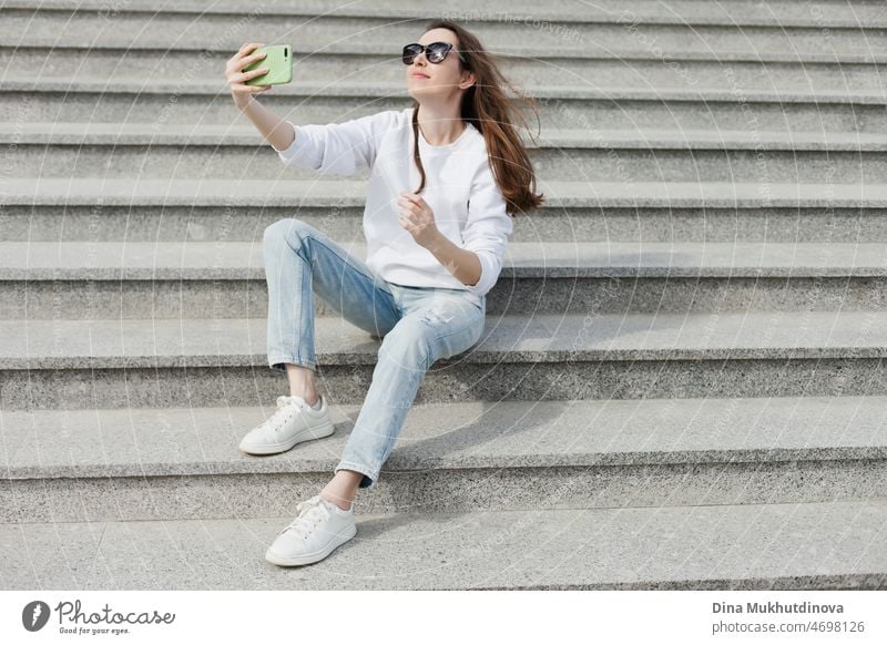
[[[332,470],[333,437],[256,458],[237,448],[274,406],[0,412],[8,479]],[[441,427],[441,414],[447,419]],[[385,469],[497,469],[884,459],[887,397],[768,397],[415,405]]]

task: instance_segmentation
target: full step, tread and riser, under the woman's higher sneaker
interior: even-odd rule
[[[359,504],[400,513],[887,499],[885,403],[871,396],[421,405],[376,494]],[[243,454],[241,438],[271,411],[7,411],[0,522],[279,514],[292,496],[323,488],[360,407],[336,403],[336,432],[324,440]]]

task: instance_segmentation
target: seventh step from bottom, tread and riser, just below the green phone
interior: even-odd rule
[[[147,123],[159,131],[169,124],[248,124],[231,100],[224,79],[166,80],[162,82],[8,75],[0,82],[0,116],[3,121],[90,123]],[[887,130],[887,103],[883,91],[798,90],[738,91],[717,88],[630,88],[623,83],[587,85],[533,85],[524,93],[534,98],[539,124],[546,129],[592,127],[632,130],[735,130],[745,124],[753,131],[869,132]],[[509,93],[514,95],[513,92]],[[294,122],[355,119],[383,110],[399,110],[410,99],[402,80],[371,81],[332,86],[328,82],[294,80],[275,88],[262,103]],[[537,116],[523,104],[528,125]]]

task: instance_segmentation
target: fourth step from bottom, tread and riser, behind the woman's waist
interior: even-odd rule
[[[365,244],[344,245],[366,257]],[[510,243],[488,315],[881,309],[883,243]],[[262,240],[0,243],[0,319],[267,311]],[[315,299],[317,316],[338,309]]]

